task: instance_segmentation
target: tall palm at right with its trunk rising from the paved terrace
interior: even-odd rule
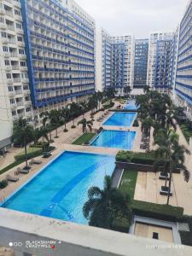
[[[178,143],[178,135],[175,131],[160,131],[159,135],[154,138],[154,144],[158,145],[156,154],[164,161],[164,172],[166,176],[169,172],[169,185],[167,189],[167,205],[170,200],[170,192],[172,186],[172,172],[176,168],[183,171],[184,179],[189,181],[189,171],[184,166],[185,154],[189,154],[189,150]]]

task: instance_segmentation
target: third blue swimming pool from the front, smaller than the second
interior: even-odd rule
[[[131,126],[132,122],[136,118],[137,113],[125,113],[125,112],[115,112],[109,119],[102,125],[109,126]]]

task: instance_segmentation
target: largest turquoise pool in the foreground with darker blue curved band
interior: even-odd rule
[[[2,207],[30,212],[79,224],[91,186],[102,188],[105,175],[112,175],[114,156],[64,152],[26,183]]]

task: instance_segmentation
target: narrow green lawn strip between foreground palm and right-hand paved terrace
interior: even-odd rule
[[[131,200],[133,200],[136,183],[137,183],[137,172],[132,170],[125,170],[123,177],[121,178],[119,189],[127,192],[130,195]]]

